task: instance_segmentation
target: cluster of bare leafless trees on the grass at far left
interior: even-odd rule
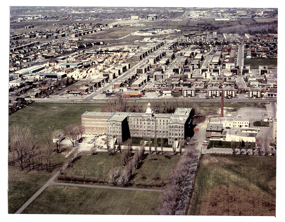
[[[66,133],[57,129],[38,135],[28,127],[13,125],[8,132],[8,164],[18,164],[21,170],[51,171],[55,166],[53,156],[62,152],[62,140],[66,136],[74,146],[82,137],[80,125],[67,125]]]

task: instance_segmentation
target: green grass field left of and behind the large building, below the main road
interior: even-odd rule
[[[38,103],[9,115],[9,126],[27,126],[43,135],[47,131],[65,129],[68,124],[80,124],[86,111],[100,111],[101,103]]]

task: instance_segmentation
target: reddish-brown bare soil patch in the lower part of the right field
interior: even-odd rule
[[[215,186],[203,195],[200,215],[275,216],[276,199],[249,187]]]

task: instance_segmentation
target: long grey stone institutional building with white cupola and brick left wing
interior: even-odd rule
[[[145,113],[85,112],[82,114],[84,133],[89,135],[114,135],[118,142],[130,137],[167,138],[168,144],[190,136],[192,108],[177,108],[172,114],[153,113],[150,103]]]

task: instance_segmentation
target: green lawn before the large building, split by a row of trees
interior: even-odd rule
[[[147,148],[146,148],[147,150]],[[152,150],[154,152],[154,150]],[[124,151],[123,151],[124,152]],[[66,176],[85,176],[96,178],[99,181],[108,182],[109,171],[112,166],[123,167],[121,156],[123,153],[116,152],[109,155],[107,152],[98,152],[95,155],[81,156],[72,162],[72,167],[63,171]],[[138,169],[132,173],[131,183],[158,184],[168,181],[170,170],[178,163],[180,155],[170,155],[165,158],[162,155],[145,154],[144,159],[139,164]],[[158,172],[160,179],[155,180],[154,174]],[[145,179],[141,178],[142,173],[146,175]]]

